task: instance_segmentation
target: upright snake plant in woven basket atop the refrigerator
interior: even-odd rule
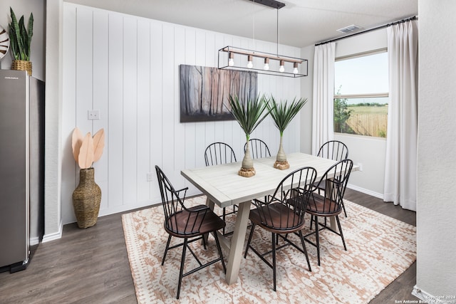
[[[13,63],[11,70],[26,70],[31,76],[31,61],[30,61],[30,43],[33,36],[33,14],[28,18],[27,28],[24,24],[24,15],[21,16],[19,22],[16,19],[13,9],[11,12],[11,23],[9,23],[9,40],[11,54],[13,55]]]

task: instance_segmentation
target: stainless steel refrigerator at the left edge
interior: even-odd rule
[[[28,266],[43,214],[44,83],[0,70],[0,272]]]

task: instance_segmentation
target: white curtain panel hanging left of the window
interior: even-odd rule
[[[334,138],[334,59],[335,43],[315,47],[314,95],[312,106],[312,154]]]

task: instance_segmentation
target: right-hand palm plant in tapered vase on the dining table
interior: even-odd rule
[[[277,152],[276,162],[274,163],[274,168],[276,169],[284,170],[290,167],[290,164],[286,160],[286,154],[282,145],[282,138],[284,136],[286,127],[289,125],[291,120],[293,120],[296,114],[298,114],[301,108],[304,107],[306,102],[307,98],[299,98],[299,100],[296,100],[296,98],[294,98],[291,103],[288,103],[287,100],[284,100],[284,102],[281,103],[277,103],[274,97],[271,96],[270,102],[266,103],[277,129],[280,131],[279,152]]]

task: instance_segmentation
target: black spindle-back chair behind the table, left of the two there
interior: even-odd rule
[[[236,154],[234,154],[233,148],[224,142],[213,142],[207,146],[204,151],[204,162],[206,166],[214,166],[216,164],[229,164],[230,162],[237,162]],[[226,220],[227,215],[235,214],[237,211],[237,205],[233,205],[233,211],[227,212],[226,207],[222,211],[222,219]],[[222,233],[225,234],[225,227],[222,229]]]

